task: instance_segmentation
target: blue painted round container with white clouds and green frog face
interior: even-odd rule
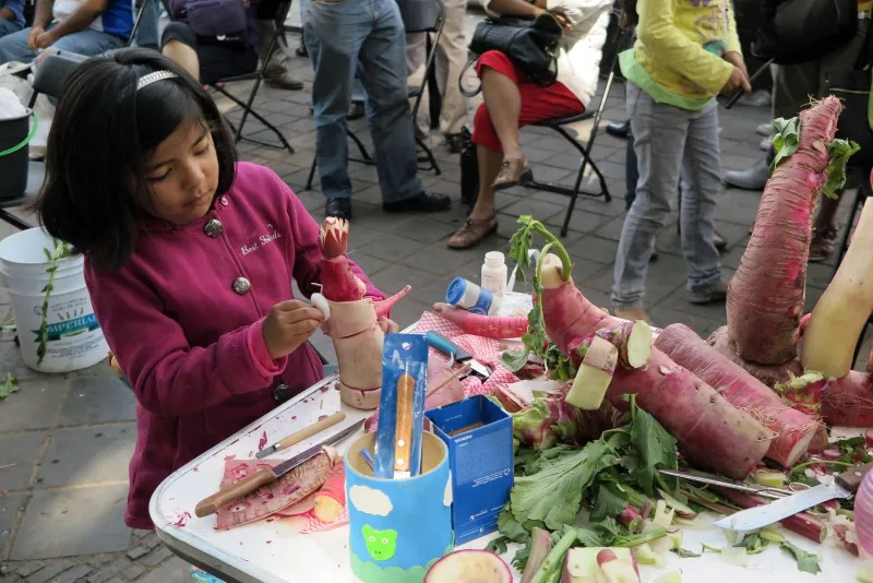
[[[374,447],[375,433],[367,433],[344,461],[351,571],[363,583],[422,583],[428,569],[454,550],[449,451],[424,431],[421,474],[381,479],[360,453]]]

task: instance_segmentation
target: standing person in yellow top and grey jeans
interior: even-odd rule
[[[646,270],[655,235],[682,179],[682,252],[693,304],[721,301],[727,284],[714,245],[713,214],[721,191],[718,93],[750,91],[731,0],[622,0],[638,14],[634,48],[621,55],[627,79],[639,179],[615,257],[615,316],[647,320]]]

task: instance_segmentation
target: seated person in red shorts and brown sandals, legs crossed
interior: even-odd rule
[[[473,142],[479,158],[479,197],[464,225],[449,239],[452,249],[467,249],[495,233],[494,191],[518,183],[529,174],[518,145],[518,128],[550,118],[582,114],[597,93],[601,48],[607,38],[611,0],[482,0],[493,15],[536,17],[554,13],[565,26],[558,53],[558,82],[542,87],[528,80],[509,57],[488,51],[476,72],[482,97],[474,120]]]

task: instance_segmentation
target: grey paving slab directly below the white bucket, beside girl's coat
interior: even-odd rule
[[[62,426],[136,419],[136,397],[117,373],[75,379],[61,420]]]

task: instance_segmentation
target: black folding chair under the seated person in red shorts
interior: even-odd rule
[[[625,32],[620,33],[624,35]],[[561,227],[561,237],[566,237],[567,230],[570,229],[570,217],[573,216],[573,210],[576,207],[576,199],[578,199],[579,194],[591,197],[595,199],[599,199],[600,197],[603,198],[603,202],[610,202],[612,197],[609,193],[609,187],[607,186],[606,178],[603,178],[600,168],[597,167],[597,164],[591,159],[590,153],[591,147],[594,146],[594,140],[597,138],[597,130],[600,126],[600,119],[603,117],[603,108],[607,105],[607,98],[609,97],[609,92],[612,88],[612,82],[615,79],[615,64],[619,59],[618,51],[612,58],[612,66],[610,67],[609,76],[607,78],[607,85],[603,88],[603,96],[600,98],[600,105],[597,107],[596,110],[586,110],[584,114],[577,114],[575,116],[567,116],[564,118],[554,118],[554,119],[545,119],[542,121],[537,121],[536,123],[531,123],[531,126],[537,128],[549,128],[551,130],[557,131],[560,133],[564,140],[570,142],[573,147],[575,147],[578,153],[582,155],[579,160],[579,169],[576,172],[576,181],[573,185],[573,188],[566,188],[559,185],[551,185],[551,183],[543,183],[537,182],[536,180],[527,180],[524,182],[519,182],[519,186],[526,188],[533,188],[537,190],[545,190],[546,192],[554,192],[555,194],[563,194],[564,197],[570,197],[570,205],[566,209],[566,215],[564,215],[564,224]],[[570,123],[575,123],[577,121],[585,121],[588,119],[594,119],[594,124],[591,127],[591,134],[588,136],[588,142],[583,145],[570,135],[570,133],[564,129],[564,126],[569,126]],[[597,175],[598,180],[600,181],[600,191],[599,192],[588,192],[586,190],[582,190],[582,180],[585,176],[585,169],[590,165],[591,170],[594,174]]]

